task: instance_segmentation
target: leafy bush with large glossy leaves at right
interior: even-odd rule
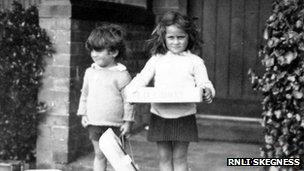
[[[263,157],[304,159],[303,22],[304,0],[276,0],[259,52],[265,72],[250,72],[253,88],[264,97]]]

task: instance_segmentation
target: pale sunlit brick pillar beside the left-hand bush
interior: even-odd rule
[[[56,53],[47,61],[39,99],[48,104],[41,115],[37,140],[39,168],[60,167],[69,161],[70,30],[71,5],[68,1],[43,1],[39,8],[40,26],[51,37]]]

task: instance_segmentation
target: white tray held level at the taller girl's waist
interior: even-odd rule
[[[203,101],[202,88],[154,88],[141,87],[127,90],[129,103],[199,103]]]

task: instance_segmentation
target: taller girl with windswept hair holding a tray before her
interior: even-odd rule
[[[147,86],[201,87],[210,103],[215,95],[204,61],[191,53],[200,45],[192,20],[178,12],[164,14],[148,40],[152,57],[128,85],[128,91]],[[189,142],[198,141],[194,103],[152,103],[148,140],[157,143],[161,171],[187,171]]]

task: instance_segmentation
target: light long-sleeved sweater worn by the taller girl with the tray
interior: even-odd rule
[[[208,78],[204,61],[190,51],[179,55],[168,51],[165,55],[152,56],[143,70],[127,86],[130,91],[147,86],[154,79],[154,87],[214,87]],[[195,103],[152,103],[151,112],[163,118],[178,118],[196,113]]]

